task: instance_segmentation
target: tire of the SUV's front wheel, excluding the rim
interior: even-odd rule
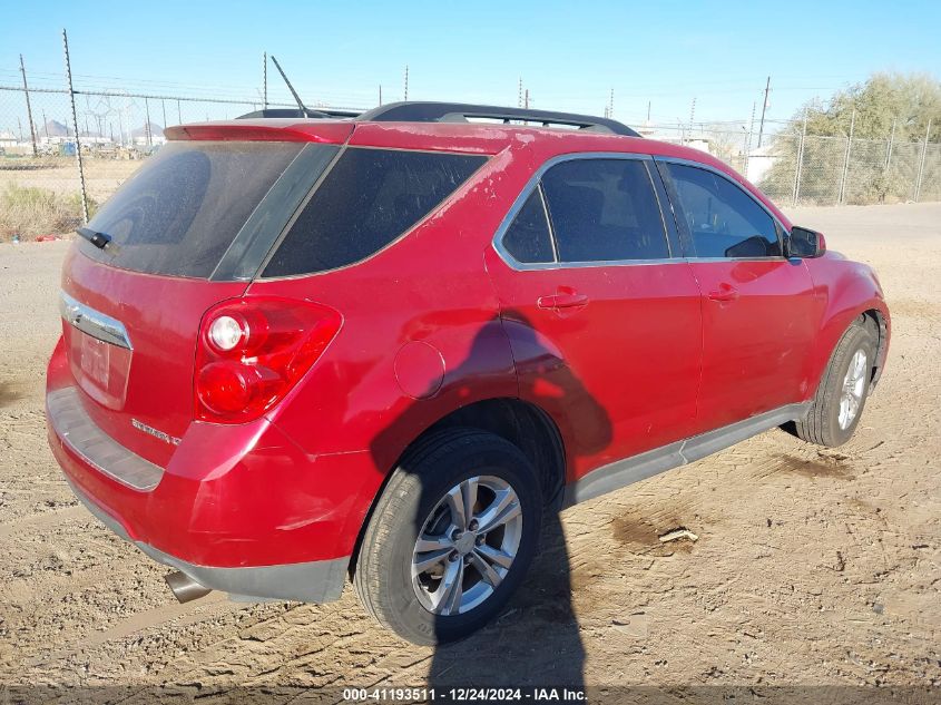
[[[807,415],[795,422],[798,438],[827,448],[842,445],[852,438],[869,396],[872,369],[875,364],[875,347],[876,340],[872,329],[862,319],[854,321],[833,351]],[[862,399],[855,417],[844,429],[840,425],[843,382],[857,351],[862,351],[866,356]]]

